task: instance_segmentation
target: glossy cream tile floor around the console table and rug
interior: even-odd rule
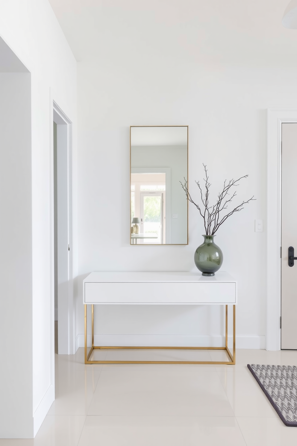
[[[184,358],[179,351],[118,352],[124,354]],[[248,363],[296,365],[297,351],[237,350],[235,366],[85,366],[82,348],[74,356],[56,355],[56,400],[36,438],[0,440],[0,446],[297,445],[297,427],[282,423]]]

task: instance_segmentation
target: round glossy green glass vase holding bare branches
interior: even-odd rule
[[[194,254],[194,262],[203,276],[214,276],[223,263],[223,252],[215,244],[215,235],[203,235],[204,242]]]

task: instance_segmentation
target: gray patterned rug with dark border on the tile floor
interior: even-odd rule
[[[286,426],[297,426],[297,367],[248,364],[265,395]]]

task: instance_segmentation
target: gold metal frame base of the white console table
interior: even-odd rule
[[[94,346],[94,304],[92,305],[92,347],[87,347],[87,305],[85,305],[85,364],[235,364],[235,305],[233,305],[233,355],[228,348],[228,305],[226,305],[225,347],[114,347]],[[95,361],[93,350],[226,350],[230,361]]]

